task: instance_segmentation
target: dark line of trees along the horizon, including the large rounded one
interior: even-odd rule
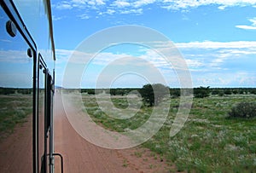
[[[128,95],[132,90],[137,90],[137,92],[143,97],[144,103],[148,104],[149,107],[158,105],[166,95],[170,95],[172,98],[177,98],[181,95],[181,89],[169,88],[163,84],[145,84],[143,85],[143,88],[133,89],[81,89],[81,92],[89,95],[95,95],[98,93]],[[205,98],[210,95],[256,95],[256,88],[210,88],[210,86],[201,86],[194,88],[193,94],[195,98]]]

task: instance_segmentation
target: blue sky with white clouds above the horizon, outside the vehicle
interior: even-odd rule
[[[51,3],[56,85],[118,88],[164,83],[182,87],[177,66],[173,65],[176,59],[170,64],[161,55],[167,49],[166,43],[171,43],[178,51],[173,56],[186,62],[193,87],[256,86],[256,0],[52,0]],[[108,31],[127,25],[143,26],[170,42],[159,42],[156,38],[150,40],[154,41],[152,47],[148,43],[127,42],[108,45],[113,37],[122,40],[130,33],[122,29],[115,36],[108,35]],[[92,44],[105,43],[104,49],[86,47],[101,33],[102,37]],[[135,37],[131,39],[143,37],[133,33]],[[149,40],[148,37],[151,35],[143,39]],[[71,70],[68,64],[74,65]],[[75,77],[79,78],[79,84],[74,84]]]

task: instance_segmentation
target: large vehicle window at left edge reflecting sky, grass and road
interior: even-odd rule
[[[2,8],[0,22],[0,172],[32,172],[33,58]]]

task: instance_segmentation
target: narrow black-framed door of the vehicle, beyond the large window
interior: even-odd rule
[[[54,80],[42,55],[39,55],[38,85],[38,168],[40,172],[53,172]]]

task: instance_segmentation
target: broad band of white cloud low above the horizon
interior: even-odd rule
[[[158,44],[159,47],[157,47],[157,49],[166,49],[166,43],[159,42]],[[249,60],[251,64],[253,63],[253,56],[256,55],[256,42],[221,43],[206,41],[202,43],[176,43],[175,45],[180,49],[189,66],[193,83],[195,84],[194,86],[250,87],[256,84],[256,74],[252,66],[246,66],[244,63],[241,63],[241,66],[236,66],[246,60]],[[118,72],[120,69],[130,69],[131,72],[137,70],[137,72],[145,72],[145,74],[147,73],[149,76],[154,76],[154,73],[150,72],[150,69],[154,67],[159,69],[165,78],[168,78],[168,81],[175,78],[175,69],[172,64],[168,63],[153,49],[144,48],[142,54],[137,56],[128,55],[126,53],[114,54],[112,52],[101,52],[94,56],[95,54],[86,54],[64,49],[57,49],[56,54],[58,57],[56,75],[60,77],[61,71],[65,69],[60,66],[66,64],[69,57],[74,55],[76,56],[76,60],[70,61],[79,64],[89,63],[91,66],[89,70],[93,71],[88,71],[89,74],[94,74],[98,71],[101,72],[103,67],[99,68],[99,66],[113,66],[113,68],[111,68],[113,71],[109,72]],[[94,59],[91,60],[93,57]],[[176,59],[173,58],[173,61],[176,61]],[[61,62],[63,63],[60,64]],[[233,69],[232,63],[230,64],[230,62],[234,63],[236,66],[235,69]],[[239,69],[237,69],[237,67],[239,67]],[[169,83],[173,84],[172,81],[169,81]],[[90,82],[91,86],[93,86],[93,84],[93,82]]]

